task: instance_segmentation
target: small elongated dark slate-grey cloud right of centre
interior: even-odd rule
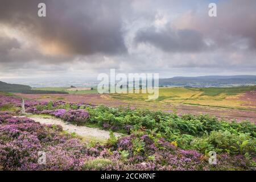
[[[200,32],[189,29],[174,30],[169,27],[160,31],[155,27],[140,30],[135,42],[149,43],[166,52],[198,52],[207,48]]]

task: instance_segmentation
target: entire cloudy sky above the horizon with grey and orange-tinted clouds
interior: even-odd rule
[[[255,0],[0,0],[0,78],[256,75],[255,10]]]

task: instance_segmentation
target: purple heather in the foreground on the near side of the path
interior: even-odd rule
[[[134,133],[104,145],[86,144],[61,127],[40,125],[8,113],[0,125],[0,167],[3,170],[208,170],[207,156],[181,150],[163,138]],[[46,164],[38,152],[46,152]],[[220,155],[218,169],[250,169],[244,156]]]

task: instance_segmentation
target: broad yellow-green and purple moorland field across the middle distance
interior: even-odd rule
[[[39,88],[63,91],[67,88]],[[159,88],[159,98],[147,100],[147,94],[97,94],[97,90],[70,94],[17,94],[24,98],[51,101],[84,102],[93,105],[132,106],[166,112],[210,114],[227,120],[256,122],[256,86],[233,88]],[[93,92],[93,93],[90,93]]]

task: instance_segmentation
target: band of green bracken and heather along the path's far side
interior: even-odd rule
[[[218,121],[209,115],[179,116],[175,113],[129,107],[56,105],[51,102],[38,105],[36,109],[34,106],[28,107],[27,111],[55,115],[79,125],[94,125],[125,134],[141,133],[155,139],[164,138],[168,142],[174,142],[175,146],[185,150],[197,150],[203,154],[214,150],[219,153],[255,155],[256,126],[246,121],[229,123]],[[112,144],[113,140],[110,137]],[[137,146],[135,151],[139,152],[143,148],[143,143],[139,141],[135,141],[134,145]]]

